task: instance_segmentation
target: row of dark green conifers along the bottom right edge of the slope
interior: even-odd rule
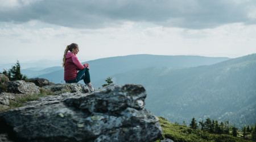
[[[250,126],[248,124],[247,127],[244,126],[242,128],[242,131],[238,131],[236,126],[229,126],[229,120],[227,120],[225,123],[219,123],[218,120],[210,120],[210,118],[207,118],[205,122],[204,120],[201,120],[199,125],[197,125],[196,119],[192,118],[189,127],[194,130],[199,129],[200,127],[200,129],[204,132],[232,135],[234,137],[237,137],[240,133],[243,139],[256,141],[256,124],[254,126]]]

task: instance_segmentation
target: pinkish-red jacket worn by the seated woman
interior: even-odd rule
[[[64,65],[64,81],[75,80],[77,70],[85,69],[87,68],[87,66],[87,63],[82,65],[74,53],[67,52],[66,61]]]

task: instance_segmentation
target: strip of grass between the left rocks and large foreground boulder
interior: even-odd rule
[[[24,106],[24,103],[29,102],[29,101],[35,101],[35,100],[39,99],[40,97],[44,97],[46,95],[53,95],[53,93],[52,93],[52,91],[40,89],[39,94],[34,94],[34,95],[26,94],[26,95],[22,95],[20,97],[16,97],[14,100],[10,100],[10,105],[8,108],[0,107],[0,112],[11,110],[11,109],[14,109],[17,107],[22,107],[22,106]]]

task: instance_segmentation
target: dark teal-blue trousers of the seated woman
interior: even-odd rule
[[[90,73],[89,73],[89,69],[85,68],[82,70],[79,70],[79,72],[76,75],[76,79],[75,80],[71,80],[71,81],[66,81],[66,83],[77,83],[80,80],[84,80],[84,83],[90,83]]]

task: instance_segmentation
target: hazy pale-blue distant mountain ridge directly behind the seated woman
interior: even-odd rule
[[[97,80],[104,82],[105,78],[117,73],[125,73],[134,69],[149,67],[178,67],[188,68],[192,66],[211,65],[217,62],[229,60],[226,57],[203,57],[203,56],[161,56],[161,55],[129,55],[109,57],[86,61],[90,66],[92,83]],[[85,62],[82,62],[84,64]],[[55,70],[51,73],[36,76],[46,78],[55,83],[63,81],[64,69]]]

